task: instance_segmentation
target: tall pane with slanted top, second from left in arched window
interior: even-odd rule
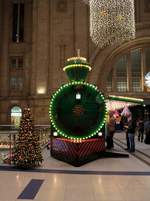
[[[122,56],[115,65],[116,68],[116,88],[118,92],[127,91],[127,59]]]

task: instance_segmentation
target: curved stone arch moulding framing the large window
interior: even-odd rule
[[[99,88],[102,88],[106,92],[107,76],[112,70],[114,61],[129,49],[149,46],[149,44],[150,37],[139,37],[118,47],[107,47],[103,51],[97,48],[90,59],[94,68],[89,80],[94,82]]]

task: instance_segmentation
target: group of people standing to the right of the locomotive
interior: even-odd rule
[[[130,152],[135,152],[135,135],[138,136],[139,142],[145,142],[145,144],[150,144],[150,120],[147,119],[135,119],[131,113],[127,114],[123,118],[123,128],[126,132],[126,150]],[[113,136],[115,133],[115,118],[113,112],[109,113],[109,121],[107,122],[107,148],[111,149],[114,147]]]

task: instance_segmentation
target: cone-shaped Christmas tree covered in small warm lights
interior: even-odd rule
[[[14,148],[13,162],[19,168],[35,168],[40,166],[42,161],[39,136],[34,132],[31,111],[30,108],[25,108]]]

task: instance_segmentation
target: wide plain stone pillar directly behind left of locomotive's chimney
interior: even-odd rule
[[[66,58],[74,55],[74,0],[50,1],[50,91],[65,82],[62,68]]]

